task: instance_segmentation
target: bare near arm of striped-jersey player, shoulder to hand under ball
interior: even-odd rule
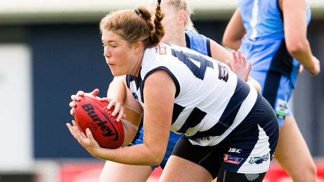
[[[175,91],[175,85],[165,71],[158,70],[146,79],[143,144],[118,149],[98,148],[91,143],[87,143],[89,147],[83,146],[90,154],[100,159],[130,165],[159,165],[164,157],[170,133]],[[73,129],[78,130],[77,127]],[[84,140],[78,131],[74,134],[78,141],[80,138]],[[87,135],[92,141],[91,132],[87,131]]]

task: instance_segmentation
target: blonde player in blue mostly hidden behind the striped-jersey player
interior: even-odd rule
[[[157,6],[157,0],[150,0],[148,9],[150,10],[152,17],[154,18],[155,8]],[[233,65],[234,72],[240,76],[241,79],[247,81],[249,76],[249,71],[251,69],[251,63],[248,67],[246,67],[246,60],[239,52],[238,58],[235,59],[239,63],[232,62],[232,56],[228,53],[228,51],[217,44],[215,41],[205,37],[204,35],[198,34],[193,27],[193,24],[190,19],[190,15],[192,11],[189,9],[185,0],[162,0],[161,8],[165,16],[162,20],[162,24],[164,25],[165,35],[162,38],[163,43],[170,43],[179,45],[182,47],[187,47],[189,49],[195,50],[201,54],[212,57],[216,60],[219,60],[223,63],[226,63],[229,66]],[[236,57],[236,53],[233,55]],[[229,61],[230,60],[230,61]],[[251,81],[252,79],[249,78]],[[254,83],[256,88],[260,88],[258,83]],[[134,144],[141,144],[144,142],[144,130],[143,125],[140,125],[139,134],[136,136],[135,140],[132,142]],[[164,168],[167,159],[170,157],[172,150],[180,138],[181,135],[170,132],[169,142],[166,149],[165,156],[163,158],[162,163],[159,165]],[[132,166],[114,163],[112,161],[107,161],[105,167],[101,173],[100,181],[110,181],[110,182],[118,182],[118,181],[133,181],[133,182],[143,182],[146,181],[152,171],[158,166]],[[129,175],[124,175],[125,173]],[[108,178],[109,176],[109,178]]]

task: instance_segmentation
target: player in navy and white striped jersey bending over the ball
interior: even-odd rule
[[[100,24],[104,56],[115,76],[108,94],[120,102],[115,101],[114,112],[124,101],[143,107],[144,143],[104,149],[89,129],[88,138],[82,136],[74,121],[74,127],[67,124],[71,134],[94,157],[151,166],[161,163],[171,129],[185,135],[161,181],[210,182],[218,176],[219,182],[261,182],[278,142],[274,111],[249,80],[247,84],[225,64],[187,48],[159,44],[164,35],[161,13],[158,4],[153,24],[142,6],[110,13]]]

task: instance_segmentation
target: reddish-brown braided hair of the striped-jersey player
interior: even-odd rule
[[[161,23],[163,17],[160,3],[157,4],[154,21],[151,19],[150,11],[144,6],[132,10],[119,10],[101,19],[100,31],[101,33],[103,30],[113,31],[129,45],[142,41],[145,48],[150,48],[159,44],[164,36]]]

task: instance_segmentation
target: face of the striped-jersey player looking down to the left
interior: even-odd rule
[[[102,31],[101,39],[104,44],[106,63],[112,74],[114,76],[131,74],[134,71],[136,61],[134,61],[135,56],[128,42],[109,30]]]

